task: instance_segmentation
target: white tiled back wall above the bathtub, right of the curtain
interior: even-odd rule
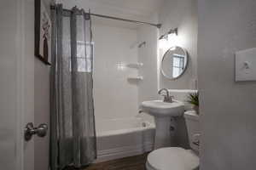
[[[94,101],[96,121],[137,115],[137,83],[127,77],[137,69],[118,68],[119,64],[137,63],[137,31],[93,24],[95,42]]]

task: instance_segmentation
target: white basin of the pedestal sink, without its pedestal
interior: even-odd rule
[[[152,116],[182,116],[184,112],[183,103],[177,100],[172,103],[162,100],[143,101],[141,108]]]

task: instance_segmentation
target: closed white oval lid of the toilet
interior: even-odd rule
[[[199,157],[192,150],[160,148],[148,154],[147,164],[157,170],[194,170],[199,167]]]

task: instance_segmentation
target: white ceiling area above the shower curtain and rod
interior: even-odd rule
[[[106,14],[130,20],[153,21],[152,14],[155,14],[165,0],[61,0],[66,8],[78,6],[91,13]],[[95,17],[96,18],[96,17]],[[137,25],[122,21],[113,21],[96,18],[95,21],[119,26],[137,28]]]

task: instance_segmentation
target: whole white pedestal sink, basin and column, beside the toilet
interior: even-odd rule
[[[183,115],[183,103],[177,100],[173,100],[172,103],[163,102],[161,100],[150,100],[143,101],[141,109],[149,115],[154,116],[154,149],[172,146],[176,127],[173,117]]]

